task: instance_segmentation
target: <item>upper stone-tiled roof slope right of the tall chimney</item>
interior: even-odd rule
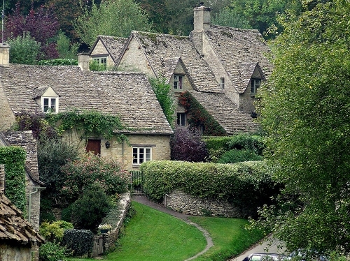
[[[246,90],[257,64],[265,77],[272,72],[270,50],[258,30],[211,25],[205,34],[240,94]]]

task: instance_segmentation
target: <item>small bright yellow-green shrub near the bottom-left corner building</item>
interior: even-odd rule
[[[73,229],[73,224],[66,221],[43,222],[40,234],[46,241],[59,243],[62,241],[64,230]]]

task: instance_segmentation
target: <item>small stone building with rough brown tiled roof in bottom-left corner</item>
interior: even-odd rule
[[[4,165],[0,165],[0,260],[38,260],[37,248],[44,239],[3,194],[4,184]]]

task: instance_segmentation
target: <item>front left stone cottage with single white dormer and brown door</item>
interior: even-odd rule
[[[22,113],[96,111],[119,117],[125,128],[115,134],[127,136],[128,142],[99,135],[82,137],[74,130],[64,137],[77,142],[82,151],[123,159],[130,170],[144,161],[169,159],[173,130],[146,75],[84,70],[86,63],[81,58],[80,66],[0,67],[2,127],[10,128]]]

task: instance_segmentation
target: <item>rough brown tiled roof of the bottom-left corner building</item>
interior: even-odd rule
[[[0,194],[0,241],[15,246],[41,245],[45,241],[22,217],[7,197]]]

